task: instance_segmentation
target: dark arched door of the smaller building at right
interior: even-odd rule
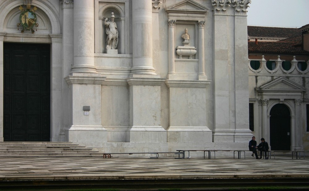
[[[284,104],[276,104],[270,110],[271,150],[291,150],[291,115]]]

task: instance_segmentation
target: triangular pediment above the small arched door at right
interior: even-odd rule
[[[305,91],[306,88],[285,78],[280,77],[260,87],[260,90],[300,90]]]

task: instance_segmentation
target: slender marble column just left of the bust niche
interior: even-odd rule
[[[168,79],[175,75],[175,23],[176,20],[168,20]]]

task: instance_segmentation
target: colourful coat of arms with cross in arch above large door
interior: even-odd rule
[[[36,23],[36,14],[35,11],[37,10],[36,6],[33,7],[31,10],[31,4],[27,4],[27,8],[24,9],[22,6],[19,6],[19,9],[21,10],[19,21],[20,23],[17,24],[17,26],[23,26],[23,30],[21,30],[21,33],[23,33],[25,30],[31,30],[32,34],[34,33],[34,30],[32,29],[34,26],[39,26],[38,23]]]

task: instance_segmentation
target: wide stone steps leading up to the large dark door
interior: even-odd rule
[[[0,157],[4,156],[103,157],[103,154],[72,142],[0,142]]]

